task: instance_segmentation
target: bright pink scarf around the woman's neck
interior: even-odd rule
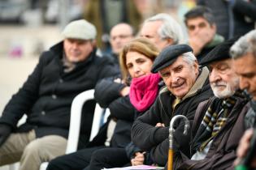
[[[130,101],[139,112],[143,112],[154,103],[158,96],[160,75],[148,74],[133,78],[130,86]]]

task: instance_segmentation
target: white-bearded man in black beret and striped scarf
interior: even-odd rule
[[[248,96],[239,89],[229,49],[236,39],[218,45],[203,58],[210,70],[210,87],[215,96],[199,104],[195,113],[190,157],[175,155],[175,169],[234,169],[236,147],[245,131]]]

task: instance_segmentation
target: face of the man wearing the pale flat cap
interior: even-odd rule
[[[93,42],[92,40],[65,39],[64,51],[69,62],[82,62],[93,52]]]

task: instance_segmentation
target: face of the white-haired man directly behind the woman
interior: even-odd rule
[[[158,29],[162,26],[162,21],[150,21],[144,23],[140,36],[149,39],[158,49],[163,49],[167,45],[170,45],[172,41],[170,39],[162,39],[158,34]],[[171,41],[171,42],[170,42]]]

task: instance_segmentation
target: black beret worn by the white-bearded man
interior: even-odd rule
[[[236,40],[238,40],[238,37],[234,37],[230,40],[225,40],[223,43],[217,45],[214,49],[207,53],[205,57],[202,58],[200,65],[207,66],[211,62],[217,62],[231,58],[229,54],[229,49],[236,42]]]

